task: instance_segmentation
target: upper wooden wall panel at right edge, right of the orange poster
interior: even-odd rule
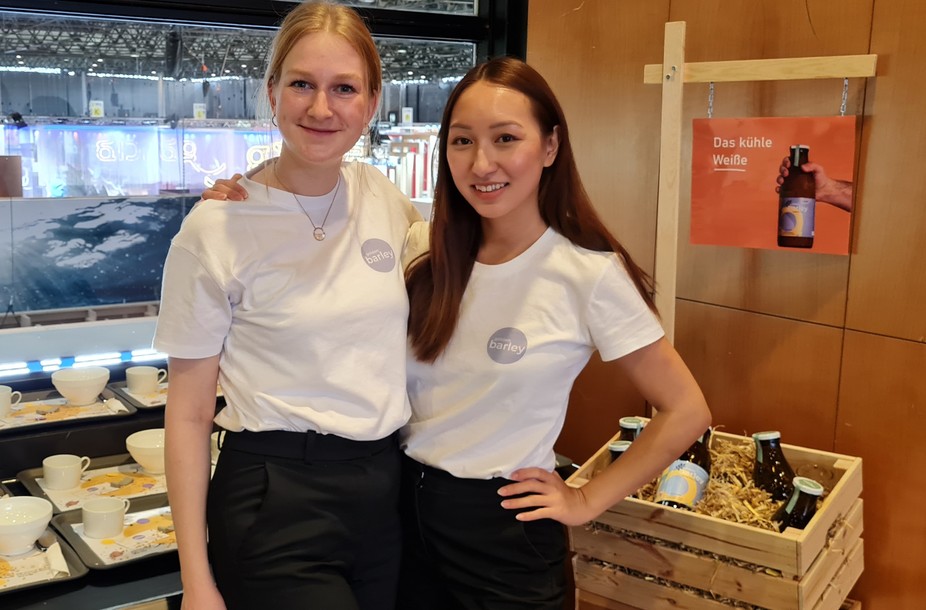
[[[877,0],[847,326],[926,341],[926,3]]]

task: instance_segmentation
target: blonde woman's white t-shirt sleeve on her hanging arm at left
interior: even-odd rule
[[[202,263],[172,244],[164,263],[155,349],[176,358],[208,358],[222,351],[231,326],[228,296]]]

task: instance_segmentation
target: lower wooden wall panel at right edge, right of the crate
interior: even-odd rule
[[[848,331],[836,451],[860,456],[865,610],[918,610],[926,591],[926,345]]]

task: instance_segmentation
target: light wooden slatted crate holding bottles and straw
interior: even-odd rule
[[[577,599],[587,592],[653,610],[840,608],[863,568],[862,460],[782,448],[795,470],[816,464],[836,474],[824,482],[829,493],[805,529],[772,532],[627,498],[595,522],[570,528]],[[605,443],[567,483],[580,487],[609,463]]]

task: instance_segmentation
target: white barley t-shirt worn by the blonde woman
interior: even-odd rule
[[[336,196],[240,184],[246,201],[200,203],[174,237],[155,347],[221,354],[215,421],[228,430],[388,436],[409,415],[398,256],[420,214],[361,163],[342,166]],[[320,224],[333,196],[316,241],[299,202]]]

